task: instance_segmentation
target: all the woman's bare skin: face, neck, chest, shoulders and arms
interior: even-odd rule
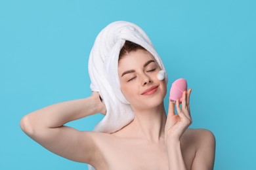
[[[147,61],[150,63],[144,67]],[[129,73],[123,75],[126,71]],[[189,104],[192,89],[183,92],[181,107],[178,102],[169,103],[166,116],[163,106],[166,84],[156,78],[158,71],[158,63],[145,50],[131,52],[119,61],[121,91],[131,103],[135,119],[115,133],[78,131],[64,126],[98,112],[106,114],[97,92],[85,99],[35,110],[22,118],[20,126],[51,152],[89,163],[96,169],[213,169],[213,133],[188,129],[192,123]],[[152,86],[158,88],[143,93]]]

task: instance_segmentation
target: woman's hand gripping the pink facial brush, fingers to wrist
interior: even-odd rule
[[[192,124],[192,118],[190,116],[190,93],[192,89],[184,91],[182,93],[182,104],[179,106],[179,101],[175,103],[169,103],[169,110],[167,120],[165,124],[165,141],[171,139],[173,141],[179,141],[184,131]],[[175,114],[175,105],[178,114]]]

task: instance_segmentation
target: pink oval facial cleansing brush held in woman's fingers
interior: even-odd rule
[[[169,99],[171,102],[175,103],[179,99],[179,103],[182,101],[182,93],[186,91],[187,84],[184,78],[179,78],[171,84],[170,96]]]

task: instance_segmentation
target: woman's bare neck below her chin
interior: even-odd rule
[[[152,109],[133,110],[135,119],[130,126],[136,137],[142,137],[155,143],[164,139],[166,114],[163,103]]]

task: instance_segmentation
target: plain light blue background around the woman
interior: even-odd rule
[[[256,169],[255,9],[253,0],[0,1],[0,169],[87,169],[35,143],[19,122],[91,94],[89,52],[116,20],[148,33],[167,67],[168,88],[188,80],[191,127],[215,134],[215,169]],[[100,118],[70,126],[91,130]]]

